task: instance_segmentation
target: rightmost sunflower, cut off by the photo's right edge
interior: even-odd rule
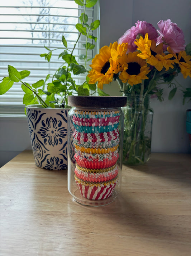
[[[180,72],[183,77],[191,77],[191,56],[186,54],[186,51],[180,51],[180,53],[174,53],[170,47],[167,48],[168,52],[174,57],[174,62],[180,67]]]

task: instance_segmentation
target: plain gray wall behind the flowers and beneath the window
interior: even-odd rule
[[[137,20],[152,23],[157,28],[161,19],[171,19],[182,28],[186,44],[191,41],[190,0],[101,0],[100,47],[117,41]],[[184,87],[191,86],[191,79],[177,78]],[[163,86],[165,87],[165,86]],[[120,95],[117,84],[105,85],[110,95]],[[152,99],[154,109],[152,152],[190,153],[186,133],[186,109],[191,102],[182,105],[179,92],[169,101],[164,91],[164,102]],[[30,149],[26,117],[0,117],[0,166],[24,149]]]

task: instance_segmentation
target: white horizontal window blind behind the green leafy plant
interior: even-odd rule
[[[32,84],[54,74],[62,65],[58,59],[63,49],[53,51],[51,62],[40,57],[48,53],[44,48],[56,49],[63,47],[62,35],[65,36],[69,48],[78,37],[75,28],[83,6],[72,0],[6,0],[0,2],[0,79],[8,76],[8,64],[18,71],[29,70],[30,76],[25,81]],[[99,19],[99,1],[92,8],[86,8],[89,21]],[[94,57],[99,49],[99,29],[94,31],[98,38],[94,50],[89,51],[88,58]],[[78,42],[75,56],[83,53],[83,37]],[[77,58],[79,64],[83,64]],[[90,64],[90,63],[89,63]],[[78,76],[82,83],[85,75]],[[16,116],[24,113],[23,91],[19,83],[15,83],[4,95],[0,95],[0,115]]]

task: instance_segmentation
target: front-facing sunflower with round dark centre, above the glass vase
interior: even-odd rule
[[[131,86],[140,84],[142,80],[148,79],[149,67],[145,60],[138,57],[138,51],[129,53],[125,57],[124,69],[119,78],[123,83],[128,81]]]

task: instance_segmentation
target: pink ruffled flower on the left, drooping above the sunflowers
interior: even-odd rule
[[[157,42],[158,33],[153,25],[146,21],[137,21],[135,26],[131,27],[119,38],[118,44],[128,42],[128,51],[133,52],[137,49],[137,45],[134,44],[137,36],[141,35],[144,38],[146,33],[148,33],[149,39],[154,39]]]

